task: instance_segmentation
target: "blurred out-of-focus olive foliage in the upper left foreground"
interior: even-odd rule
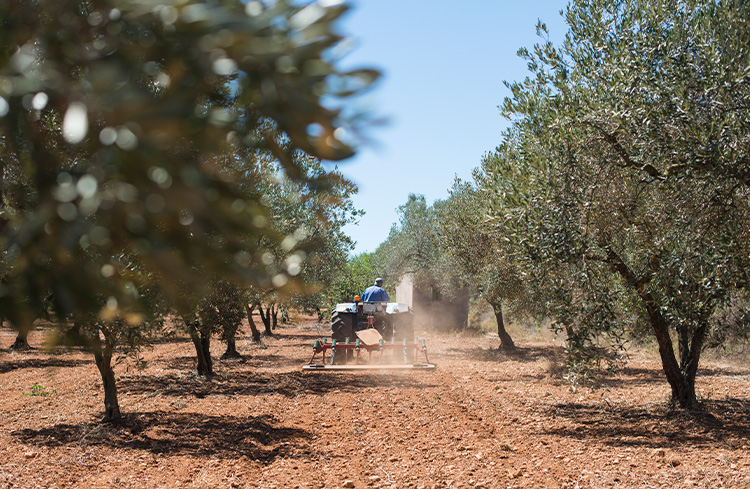
[[[341,102],[377,74],[335,66],[346,9],[4,2],[0,312],[28,324],[48,291],[61,317],[96,313],[101,297],[147,308],[122,255],[180,307],[190,307],[180,283],[203,295],[206,271],[263,288],[288,281],[288,264],[267,258],[287,236],[269,227],[262,170],[252,168],[272,155],[304,179],[300,151],[352,154],[361,121]]]

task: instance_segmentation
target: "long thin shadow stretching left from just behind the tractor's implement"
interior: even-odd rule
[[[204,380],[183,374],[139,375],[122,379],[119,383],[122,393],[158,393],[174,397],[207,396],[257,396],[280,394],[285,397],[298,397],[308,394],[324,395],[331,391],[356,392],[381,387],[429,388],[437,387],[425,377],[411,375],[389,375],[378,373],[326,372],[287,372],[260,373],[232,371],[228,378]],[[158,387],[157,387],[158,386]]]

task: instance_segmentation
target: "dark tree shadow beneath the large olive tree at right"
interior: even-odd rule
[[[553,404],[545,409],[560,428],[540,435],[561,436],[611,446],[650,448],[739,448],[750,440],[750,400],[728,399],[704,403],[701,411],[613,406],[607,401]]]

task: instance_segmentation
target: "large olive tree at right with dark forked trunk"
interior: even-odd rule
[[[750,8],[578,0],[565,18],[561,46],[520,51],[531,75],[479,174],[489,222],[574,369],[645,321],[689,407],[711,318],[747,284]]]

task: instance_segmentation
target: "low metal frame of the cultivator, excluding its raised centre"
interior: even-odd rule
[[[362,363],[361,353],[367,351],[367,363]],[[331,352],[331,357],[326,362],[326,352]],[[372,363],[372,353],[380,353],[380,363]],[[387,355],[386,352],[389,354]],[[403,363],[383,363],[387,356],[390,356],[391,360],[403,352]],[[351,355],[350,355],[351,353]],[[409,362],[409,353],[411,353],[412,362]],[[424,355],[424,362],[417,362],[418,353]],[[320,363],[315,363],[315,358],[321,354],[322,359]],[[340,358],[340,355],[344,355],[344,363],[336,363]],[[350,358],[351,357],[351,358]],[[349,360],[353,360],[354,363],[349,363]],[[313,345],[313,356],[310,358],[310,362],[307,365],[302,366],[302,370],[432,370],[435,368],[434,363],[430,363],[427,357],[427,346],[424,340],[414,339],[414,342],[408,342],[404,340],[403,344],[398,344],[395,341],[386,343],[380,340],[377,345],[366,345],[357,338],[354,343],[350,343],[349,339],[346,339],[345,343],[331,340],[331,343],[327,343],[326,340],[322,342],[315,340]]]

